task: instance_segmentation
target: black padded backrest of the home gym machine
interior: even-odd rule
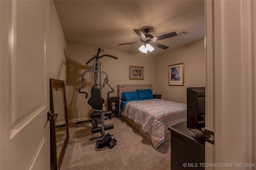
[[[101,96],[100,88],[94,87],[92,88],[92,96],[88,100],[88,104],[91,105],[94,109],[102,109],[102,105],[105,100]]]

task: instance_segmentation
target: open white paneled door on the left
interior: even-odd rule
[[[0,169],[49,170],[48,1],[0,1]]]

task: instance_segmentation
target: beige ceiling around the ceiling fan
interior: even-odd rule
[[[67,43],[137,53],[133,29],[150,28],[154,37],[175,31],[178,36],[156,41],[165,53],[204,38],[204,0],[54,0]],[[187,34],[181,33],[188,32]],[[143,54],[143,53],[142,53]]]

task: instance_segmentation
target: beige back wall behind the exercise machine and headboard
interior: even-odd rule
[[[86,73],[85,83],[81,91],[88,92],[88,98],[85,94],[78,93],[81,84],[82,73],[85,70],[91,70],[93,61],[88,65],[86,63],[97,54],[98,47],[89,47],[68,43],[67,56],[67,107],[68,118],[70,121],[90,117],[90,106],[87,104],[90,98],[90,91],[93,82],[93,73]],[[118,59],[111,57],[102,57],[102,71],[108,74],[108,83],[114,89],[114,93],[110,96],[117,96],[118,84],[153,84],[156,86],[156,57],[149,55],[146,57],[144,53],[127,53],[104,49],[101,55],[112,55]],[[129,66],[144,66],[144,80],[129,80]],[[105,76],[102,74],[102,84]],[[98,78],[99,81],[99,78]],[[102,89],[102,97],[107,101],[107,93],[111,89],[105,85]],[[103,105],[105,106],[105,105]]]

